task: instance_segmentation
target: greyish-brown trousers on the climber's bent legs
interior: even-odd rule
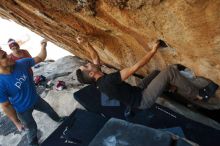
[[[150,76],[145,77],[139,87],[143,89],[142,100],[139,108],[150,108],[168,85],[174,85],[181,93],[184,93],[188,98],[196,98],[199,89],[183,77],[179,70],[174,66],[169,66],[167,69],[161,71],[154,71]]]

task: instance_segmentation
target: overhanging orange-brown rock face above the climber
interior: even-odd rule
[[[75,39],[87,35],[116,68],[134,64],[162,39],[169,47],[139,74],[181,63],[220,84],[219,0],[0,0],[0,15],[90,59]]]

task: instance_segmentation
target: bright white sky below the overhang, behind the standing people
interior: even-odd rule
[[[28,50],[33,57],[40,52],[40,42],[43,39],[41,36],[32,32],[28,28],[15,23],[14,21],[0,18],[0,46],[8,54],[11,52],[7,44],[9,38],[22,41],[28,40],[29,38],[29,41],[21,45],[20,48]],[[47,59],[57,60],[67,55],[72,54],[53,43],[48,42]]]

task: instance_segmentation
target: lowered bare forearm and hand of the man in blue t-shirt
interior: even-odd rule
[[[10,102],[4,102],[0,104],[3,112],[7,115],[7,117],[15,124],[19,131],[24,129],[24,126],[21,124],[20,120],[17,117],[16,111],[10,104]]]

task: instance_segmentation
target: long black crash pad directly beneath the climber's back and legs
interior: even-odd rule
[[[74,93],[74,98],[87,110],[98,114],[104,113],[108,117],[125,119],[125,107],[103,107],[100,97],[101,93],[94,85],[86,86]],[[137,110],[128,121],[156,129],[181,127],[185,137],[193,142],[202,146],[220,145],[220,130],[195,122],[158,104],[147,110]]]

